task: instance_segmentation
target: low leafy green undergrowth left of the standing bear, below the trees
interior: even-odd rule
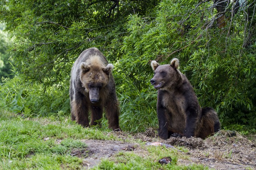
[[[16,76],[5,79],[0,91],[0,107],[26,117],[70,114],[68,90],[46,90],[40,85],[25,83]]]

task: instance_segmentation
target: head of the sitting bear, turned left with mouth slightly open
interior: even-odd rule
[[[154,77],[150,80],[156,89],[170,89],[182,81],[182,73],[178,70],[179,60],[174,58],[170,64],[160,65],[156,61],[151,62]]]

